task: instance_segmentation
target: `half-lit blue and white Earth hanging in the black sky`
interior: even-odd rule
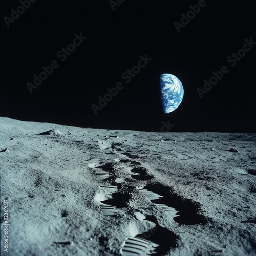
[[[172,74],[161,74],[160,90],[164,113],[167,114],[176,110],[184,96],[181,81]]]

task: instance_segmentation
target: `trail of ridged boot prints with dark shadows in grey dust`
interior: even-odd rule
[[[113,144],[112,150],[115,151]],[[141,163],[131,160],[138,158],[130,153],[121,153],[118,148],[117,153],[125,155],[129,159],[118,160],[121,163],[127,163],[134,168],[131,169],[131,178],[139,181],[148,181],[154,178],[153,175],[147,174],[146,169],[140,167]],[[123,194],[118,190],[121,184],[114,182],[115,169],[112,163],[106,163],[95,168],[96,177],[104,181],[111,181],[114,185],[101,185],[100,191],[95,195],[95,200],[104,216],[115,216],[119,208],[124,208],[129,202],[129,193]],[[130,187],[131,188],[131,187]],[[138,189],[145,196],[148,203],[153,203],[156,207],[161,208],[165,213],[180,224],[195,225],[203,224],[206,220],[198,214],[198,203],[191,200],[184,200],[176,195],[172,188],[163,186],[160,183],[146,185]],[[153,255],[164,254],[177,246],[176,236],[172,231],[161,227],[154,216],[144,216],[140,212],[134,213],[135,219],[141,222],[147,222],[153,228],[142,234],[127,237],[120,248],[121,255]]]

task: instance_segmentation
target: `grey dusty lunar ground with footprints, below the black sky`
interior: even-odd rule
[[[0,117],[0,141],[1,255],[5,230],[20,256],[256,255],[256,134]]]

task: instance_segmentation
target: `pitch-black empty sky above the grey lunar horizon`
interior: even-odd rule
[[[8,23],[21,4],[1,1],[0,116],[107,129],[160,132],[169,122],[173,132],[256,132],[256,45],[233,67],[227,62],[245,39],[256,42],[254,3],[205,0],[178,32],[174,22],[198,3],[125,0],[113,11],[109,1],[37,0]],[[87,39],[61,61],[57,53],[75,34]],[[152,60],[126,83],[122,74],[145,55]],[[53,60],[58,68],[30,93],[27,83]],[[200,98],[197,88],[224,65],[229,72]],[[184,87],[181,105],[167,115],[161,73]],[[117,82],[124,88],[95,115],[92,104]]]

